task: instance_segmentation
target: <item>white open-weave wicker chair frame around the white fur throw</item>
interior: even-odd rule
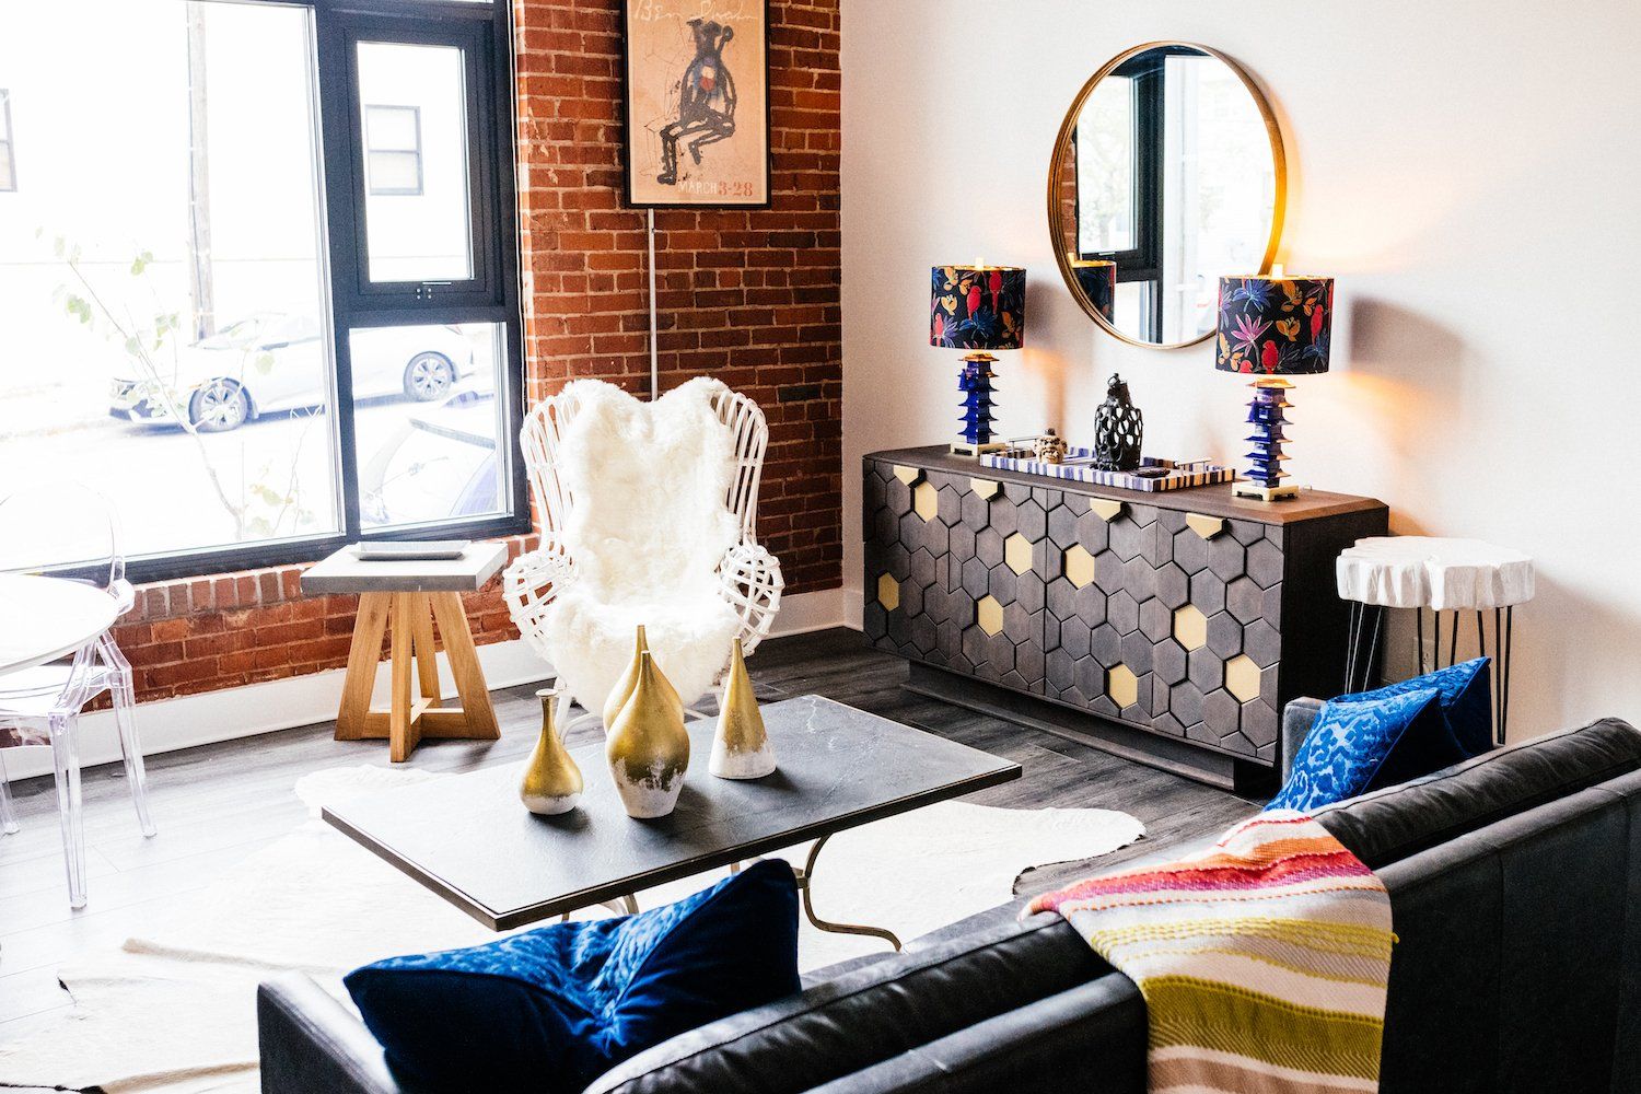
[[[546,661],[553,650],[546,641],[545,622],[553,599],[576,579],[576,559],[561,538],[569,512],[576,505],[569,487],[558,476],[558,451],[565,431],[579,410],[574,389],[542,400],[525,415],[519,438],[530,474],[530,492],[542,517],[542,546],[520,554],[502,574],[507,610],[525,640]],[[722,392],[714,400],[719,422],[734,436],[735,479],[725,499],[740,525],[740,540],[719,563],[719,594],[740,618],[738,638],[750,654],[770,635],[775,613],[781,609],[779,561],[758,546],[758,484],[763,479],[763,453],[770,446],[770,426],[758,403],[738,392]],[[725,650],[724,668],[729,668]],[[719,672],[722,679],[722,671]]]

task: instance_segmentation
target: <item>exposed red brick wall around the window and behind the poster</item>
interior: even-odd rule
[[[515,0],[530,400],[569,379],[648,389],[645,213],[622,207],[620,0]],[[770,420],[758,538],[788,592],[842,581],[839,0],[771,0],[773,202],[658,210],[661,387],[711,374]],[[517,554],[520,541],[510,541]],[[115,636],[139,699],[346,664],[358,597],[300,595],[302,566],[144,586]],[[501,589],[474,640],[517,638]]]

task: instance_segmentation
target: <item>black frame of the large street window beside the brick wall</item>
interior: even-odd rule
[[[222,0],[304,7],[312,18],[312,71],[318,95],[318,171],[323,182],[325,243],[330,261],[325,336],[333,349],[331,410],[336,443],[333,464],[341,504],[341,531],[313,536],[128,556],[136,582],[176,581],[243,569],[322,559],[371,540],[494,540],[533,530],[519,428],[523,423],[525,359],[520,236],[515,184],[515,102],[512,3],[491,0]],[[364,210],[366,143],[358,84],[356,43],[409,41],[455,44],[464,51],[469,134],[468,230],[473,277],[464,282],[368,280]],[[373,326],[496,323],[504,359],[496,385],[501,443],[507,459],[499,494],[505,513],[425,525],[364,528],[359,517],[359,459],[354,436],[350,333]],[[56,572],[75,572],[66,566]]]

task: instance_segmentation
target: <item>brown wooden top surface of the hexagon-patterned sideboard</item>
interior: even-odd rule
[[[1050,490],[1065,490],[1086,497],[1106,497],[1136,505],[1155,505],[1159,508],[1188,510],[1208,517],[1227,517],[1232,520],[1257,520],[1265,525],[1293,525],[1306,520],[1321,520],[1341,513],[1360,513],[1385,508],[1385,504],[1372,497],[1354,494],[1329,494],[1328,490],[1305,490],[1296,499],[1285,502],[1260,502],[1247,497],[1232,497],[1231,484],[1200,485],[1186,490],[1124,490],[1114,485],[1098,485],[1093,482],[1076,482],[1075,479],[1050,479],[1047,476],[1024,474],[1019,471],[1003,471],[986,467],[978,459],[953,456],[945,444],[929,444],[926,448],[893,448],[881,453],[868,453],[866,459],[880,463],[921,467],[924,471],[944,471],[973,479],[991,479],[996,482],[1016,482]]]

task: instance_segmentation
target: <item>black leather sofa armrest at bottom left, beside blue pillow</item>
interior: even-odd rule
[[[364,1023],[302,973],[258,986],[256,1042],[263,1094],[409,1094]]]

